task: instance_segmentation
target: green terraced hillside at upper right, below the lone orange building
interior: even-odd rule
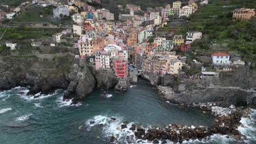
[[[201,31],[203,38],[194,43],[198,50],[209,50],[209,44],[229,44],[225,51],[244,55],[244,61],[256,61],[256,19],[232,20],[232,11],[236,8],[256,8],[256,1],[248,0],[212,0],[200,7],[189,18],[189,31]],[[199,47],[199,48],[198,48]],[[202,52],[205,53],[205,52]]]

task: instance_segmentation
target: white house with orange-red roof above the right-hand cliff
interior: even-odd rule
[[[218,52],[212,53],[212,62],[218,65],[229,65],[230,55],[228,53]]]

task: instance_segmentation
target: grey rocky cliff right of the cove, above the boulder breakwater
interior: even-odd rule
[[[217,103],[220,106],[256,106],[255,74],[245,67],[204,80],[179,79],[171,91],[160,89],[166,99],[177,103]],[[251,89],[250,89],[251,88]],[[162,91],[163,90],[163,91]],[[165,93],[165,91],[170,91]]]

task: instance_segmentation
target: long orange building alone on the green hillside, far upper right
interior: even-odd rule
[[[249,20],[251,17],[255,16],[254,9],[235,9],[233,11],[233,18],[235,19],[246,19]]]

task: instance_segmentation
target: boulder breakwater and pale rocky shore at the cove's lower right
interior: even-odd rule
[[[207,109],[207,106],[202,104],[194,104],[194,107]],[[248,115],[251,113],[251,109],[243,109],[243,107],[235,107],[232,105],[228,108],[212,105],[210,108],[210,112],[216,116],[215,124],[212,127],[194,127],[193,125],[188,126],[170,123],[166,125],[165,128],[152,127],[145,129],[132,124],[127,132],[133,132],[134,135],[127,136],[126,141],[127,143],[139,143],[143,140],[153,143],[167,143],[167,141],[182,143],[184,141],[197,139],[206,142],[210,140],[210,136],[213,134],[226,135],[226,137],[232,137],[237,141],[246,140],[246,136],[240,134],[237,128],[241,125],[240,120],[242,117],[249,117]],[[127,122],[121,124],[121,131],[127,129],[126,124]],[[114,136],[110,137],[110,142],[119,143]]]

